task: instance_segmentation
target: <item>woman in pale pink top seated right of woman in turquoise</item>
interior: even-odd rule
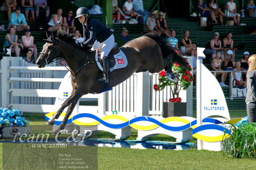
[[[34,37],[31,36],[31,32],[29,29],[25,29],[25,35],[21,37],[21,43],[23,45],[23,51],[28,52],[28,50],[31,50],[33,57],[36,61],[37,58],[37,48],[34,44]]]

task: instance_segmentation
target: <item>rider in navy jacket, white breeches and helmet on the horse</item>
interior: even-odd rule
[[[90,12],[86,7],[80,7],[76,11],[76,19],[83,25],[83,35],[84,39],[81,42],[81,46],[92,45],[92,50],[101,49],[100,58],[103,64],[104,76],[100,79],[101,82],[109,81],[109,63],[108,54],[113,48],[115,43],[115,37],[113,32],[110,31],[106,26],[104,26],[99,20],[90,19]],[[87,35],[87,36],[86,36]],[[88,37],[87,40],[85,37]]]

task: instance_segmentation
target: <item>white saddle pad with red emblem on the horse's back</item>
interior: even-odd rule
[[[116,70],[118,68],[124,68],[125,66],[128,65],[127,58],[126,58],[124,52],[122,52],[122,50],[120,50],[120,52],[118,52],[117,54],[114,55],[114,59],[115,59],[115,65],[113,67],[109,68],[110,72],[112,72],[113,70]],[[99,69],[103,71],[103,67],[102,67],[102,65],[100,65],[100,61],[99,61],[97,52],[95,52],[95,61],[96,61],[97,65],[99,66]]]

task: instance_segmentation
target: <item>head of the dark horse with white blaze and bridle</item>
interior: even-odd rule
[[[39,68],[45,67],[45,65],[52,63],[52,61],[54,61],[56,58],[60,58],[61,50],[57,47],[58,41],[59,40],[53,35],[49,36],[47,39],[44,39],[44,42],[46,43],[44,44],[43,50],[40,52],[38,59],[36,59],[36,64]]]

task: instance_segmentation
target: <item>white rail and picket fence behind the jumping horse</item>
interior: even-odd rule
[[[19,109],[22,112],[51,112],[60,82],[67,73],[63,66],[38,68],[22,58],[4,57],[0,61],[0,107]],[[99,95],[84,95],[86,100],[97,100],[98,106],[79,106],[79,112],[99,112],[142,115],[162,115],[163,102],[170,98],[170,89],[154,91],[157,73],[134,73],[112,91]],[[188,116],[192,114],[192,88],[181,93],[187,102]]]

